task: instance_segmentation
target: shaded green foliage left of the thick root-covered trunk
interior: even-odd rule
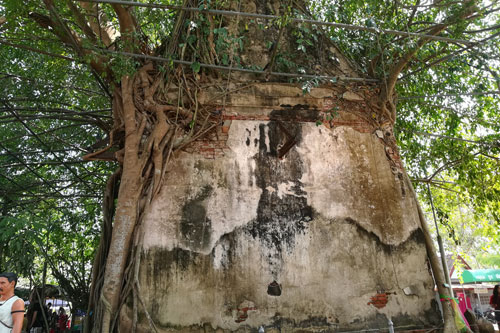
[[[35,10],[5,1],[1,38],[75,57],[28,18]],[[84,63],[4,45],[0,57],[0,270],[40,283],[47,264],[47,282],[85,308],[112,166],[81,157],[110,128],[109,97]]]

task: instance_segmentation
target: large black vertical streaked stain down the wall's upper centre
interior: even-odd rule
[[[295,235],[303,233],[313,219],[313,210],[300,182],[304,171],[300,155],[292,147],[283,159],[278,159],[278,151],[290,135],[300,144],[301,124],[288,122],[279,126],[270,121],[259,125],[259,152],[254,156],[256,183],[262,194],[257,218],[247,225],[247,231],[268,249],[266,259],[273,275],[280,270],[282,252],[293,249]],[[283,184],[289,186],[287,193],[278,192]]]

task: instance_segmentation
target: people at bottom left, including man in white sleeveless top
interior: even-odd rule
[[[14,273],[0,274],[0,333],[21,333],[24,323],[24,301],[14,295],[17,275]],[[46,307],[36,300],[31,300],[27,315],[26,331],[29,333],[67,332],[68,315],[63,307],[58,313],[51,310],[51,304]]]

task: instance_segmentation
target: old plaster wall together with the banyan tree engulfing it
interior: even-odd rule
[[[442,317],[454,330],[394,136],[395,87],[419,50],[477,17],[474,1],[428,5],[436,21],[412,33],[326,24],[332,9],[306,1],[32,2],[25,14],[88,64],[112,105],[105,144],[84,156],[117,167],[88,330],[413,329]],[[418,4],[401,15],[422,19]],[[346,56],[333,30],[353,48],[371,34],[370,61]],[[404,45],[391,61],[384,34]]]

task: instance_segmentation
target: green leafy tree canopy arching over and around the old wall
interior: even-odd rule
[[[124,74],[152,59],[167,76],[231,68],[298,82],[307,93],[347,79],[310,66],[321,36],[356,79],[380,85],[383,117],[394,123],[423,202],[431,186],[450,249],[474,248],[478,256],[498,249],[500,5],[289,1],[265,12],[245,16],[256,13],[246,1],[3,1],[0,224],[8,231],[0,235],[1,268],[40,279],[48,261],[66,293],[75,300],[89,293],[102,193],[117,167],[112,157],[91,157],[110,141],[113,90]],[[238,17],[236,28],[228,17]],[[294,50],[280,49],[285,27]],[[265,39],[267,65],[241,56],[252,48],[249,31]]]

